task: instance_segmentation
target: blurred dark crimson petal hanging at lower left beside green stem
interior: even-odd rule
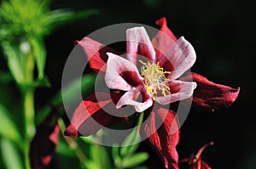
[[[57,125],[59,115],[52,110],[37,127],[37,133],[32,139],[30,147],[31,167],[35,169],[46,168],[55,152],[59,142],[60,128]]]

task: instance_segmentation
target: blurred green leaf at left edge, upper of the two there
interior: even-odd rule
[[[15,143],[20,144],[21,136],[15,122],[9,117],[9,111],[0,104],[0,135],[13,140]]]

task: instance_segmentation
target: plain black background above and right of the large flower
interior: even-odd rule
[[[51,89],[38,91],[38,102],[44,103],[61,88],[61,74],[73,42],[104,26],[118,23],[154,25],[166,16],[177,37],[184,36],[195,48],[197,60],[192,71],[207,76],[212,82],[241,87],[241,93],[228,109],[214,113],[190,110],[181,128],[177,150],[180,158],[196,153],[203,144],[214,145],[202,159],[213,169],[256,168],[256,122],[254,110],[255,14],[253,3],[234,0],[55,0],[51,8],[84,10],[96,8],[100,14],[62,26],[46,39],[48,59],[46,74]],[[147,165],[164,168],[154,151]]]

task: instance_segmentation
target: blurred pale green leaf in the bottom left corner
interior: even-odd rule
[[[1,151],[7,169],[23,169],[18,149],[11,140],[1,138]]]

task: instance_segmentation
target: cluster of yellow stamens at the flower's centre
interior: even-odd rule
[[[141,76],[144,77],[143,85],[147,93],[153,95],[153,99],[157,96],[158,91],[161,91],[164,96],[166,96],[166,93],[170,94],[170,87],[167,85],[169,79],[166,78],[166,74],[171,74],[171,71],[161,68],[159,62],[157,64],[150,64],[142,60],[139,61],[143,64],[141,67]]]

